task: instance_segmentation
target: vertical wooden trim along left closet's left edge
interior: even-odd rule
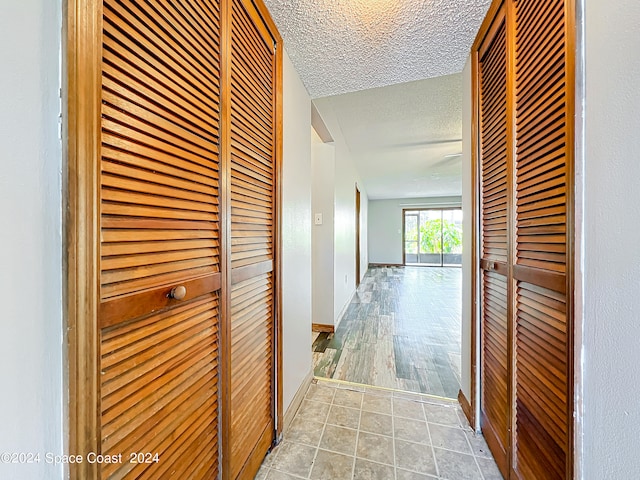
[[[102,2],[67,0],[64,15],[65,318],[67,453],[100,452],[99,164]],[[98,464],[69,465],[70,478],[97,478]]]

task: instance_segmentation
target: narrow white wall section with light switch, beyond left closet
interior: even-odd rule
[[[313,224],[313,323],[334,325],[333,316],[333,195],[335,178],[335,147],[323,143],[311,129],[311,204]],[[322,215],[316,225],[315,215]]]

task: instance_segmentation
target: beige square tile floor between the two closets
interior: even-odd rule
[[[499,480],[448,399],[317,379],[256,480]]]

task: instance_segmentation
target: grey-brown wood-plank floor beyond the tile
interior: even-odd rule
[[[456,398],[462,271],[372,267],[333,334],[314,334],[314,374]]]

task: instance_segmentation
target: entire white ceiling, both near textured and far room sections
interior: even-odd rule
[[[265,0],[369,198],[461,194],[460,157],[445,155],[461,151],[460,72],[490,3]]]

